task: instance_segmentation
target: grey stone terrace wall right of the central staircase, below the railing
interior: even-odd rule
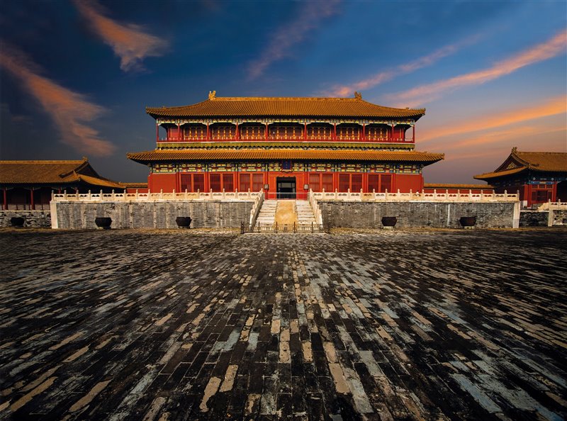
[[[318,204],[324,224],[344,228],[380,228],[383,216],[398,218],[395,226],[399,228],[461,228],[461,216],[476,216],[479,228],[515,228],[520,217],[519,202],[318,201]]]

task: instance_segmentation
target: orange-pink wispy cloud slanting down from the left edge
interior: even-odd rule
[[[71,91],[40,75],[33,62],[14,47],[3,44],[0,67],[20,79],[23,86],[41,104],[60,130],[62,142],[79,152],[94,156],[111,155],[115,147],[103,140],[99,132],[86,123],[105,111],[86,100],[82,94]]]

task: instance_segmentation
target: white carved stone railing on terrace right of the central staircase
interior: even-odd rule
[[[350,190],[346,192],[339,192],[337,190],[333,191],[310,191],[310,201],[364,201],[364,202],[374,202],[374,201],[436,201],[436,202],[516,202],[520,200],[520,195],[518,193],[473,193],[471,190],[468,191],[457,191],[456,193],[449,193],[449,190],[437,191],[434,190],[433,193],[425,192],[412,192],[408,193],[400,192],[399,190],[395,193],[390,193],[387,190],[383,193],[376,193],[372,191],[371,193],[364,193],[362,190],[360,192],[352,192]],[[312,205],[313,206],[313,205]],[[315,211],[315,210],[314,210]]]

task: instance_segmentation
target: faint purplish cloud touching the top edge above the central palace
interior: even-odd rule
[[[339,1],[303,1],[303,9],[298,11],[291,22],[286,22],[271,38],[262,55],[249,64],[251,79],[261,76],[271,63],[290,54],[293,45],[301,43],[310,30],[317,28],[321,21],[335,13]]]

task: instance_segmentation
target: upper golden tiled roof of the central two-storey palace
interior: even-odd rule
[[[265,98],[209,96],[203,102],[179,107],[146,107],[146,113],[159,117],[344,117],[412,118],[425,114],[425,108],[390,108],[355,98]]]

